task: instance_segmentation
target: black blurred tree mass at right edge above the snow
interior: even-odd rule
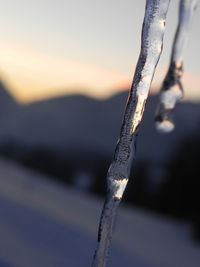
[[[172,155],[166,184],[160,193],[160,210],[189,219],[200,238],[200,134],[193,134],[177,145]]]

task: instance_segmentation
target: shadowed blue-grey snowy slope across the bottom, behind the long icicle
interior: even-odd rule
[[[102,201],[0,160],[0,267],[88,267]],[[121,206],[109,267],[199,267],[188,225]]]

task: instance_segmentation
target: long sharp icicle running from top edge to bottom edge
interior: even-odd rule
[[[98,232],[93,267],[106,266],[118,205],[126,188],[136,153],[138,126],[149,88],[161,55],[165,20],[170,0],[147,0],[142,28],[141,52],[128,97],[120,138],[107,174],[107,196]]]

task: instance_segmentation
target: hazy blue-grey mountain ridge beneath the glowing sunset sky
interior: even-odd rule
[[[13,112],[16,107],[13,99],[0,86],[1,114],[7,119],[6,127],[0,129],[0,144],[15,142],[29,148],[46,147],[79,158],[86,153],[112,157],[127,92],[105,100],[83,95],[57,97],[21,106]],[[137,158],[163,164],[177,142],[198,128],[200,105],[179,104],[174,114],[175,131],[162,135],[154,128],[156,103],[157,96],[150,96],[139,131]]]

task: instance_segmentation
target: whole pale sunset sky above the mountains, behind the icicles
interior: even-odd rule
[[[130,86],[140,51],[145,0],[0,0],[0,78],[21,102],[69,93],[107,97]],[[170,57],[178,0],[171,1],[164,50]],[[200,100],[200,16],[185,51],[186,99]]]

